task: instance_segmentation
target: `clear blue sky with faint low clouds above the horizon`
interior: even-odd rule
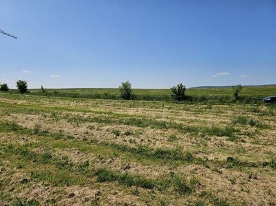
[[[0,29],[10,87],[276,83],[275,0],[1,0]]]

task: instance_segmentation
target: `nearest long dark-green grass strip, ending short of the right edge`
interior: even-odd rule
[[[93,178],[94,176],[97,177],[99,182],[113,182],[118,181],[118,183],[121,183],[122,185],[127,185],[128,187],[131,186],[137,186],[142,187],[145,189],[159,189],[164,190],[165,188],[174,187],[174,190],[176,192],[179,192],[181,194],[191,194],[192,193],[192,185],[188,186],[185,182],[184,178],[181,181],[180,176],[174,175],[172,177],[167,178],[156,178],[156,179],[150,179],[145,178],[144,176],[140,176],[138,174],[129,174],[127,172],[113,172],[110,169],[107,168],[94,168],[89,167],[90,163],[88,161],[85,161],[84,163],[75,164],[68,160],[68,158],[56,158],[51,154],[50,152],[40,152],[36,153],[29,149],[28,146],[25,145],[8,145],[6,147],[3,147],[3,151],[6,154],[10,155],[17,155],[21,158],[26,159],[26,161],[33,162],[37,165],[40,164],[46,164],[46,165],[53,165],[57,167],[58,169],[64,169],[68,172],[72,172],[73,174],[82,174],[86,177],[86,179],[89,180],[89,178]],[[39,178],[40,180],[50,180],[50,182],[54,183],[55,185],[85,185],[85,178],[80,179],[74,179],[70,178],[70,173],[68,178],[63,178],[60,181],[51,181],[51,178],[49,175],[45,175],[48,172],[43,172],[42,174],[35,174],[33,172],[31,174],[31,177],[33,178]],[[53,176],[55,176],[53,174]],[[55,180],[55,178],[53,178]],[[182,182],[182,183],[181,183]],[[179,186],[178,184],[182,185]],[[179,187],[183,187],[183,190],[181,190]]]

